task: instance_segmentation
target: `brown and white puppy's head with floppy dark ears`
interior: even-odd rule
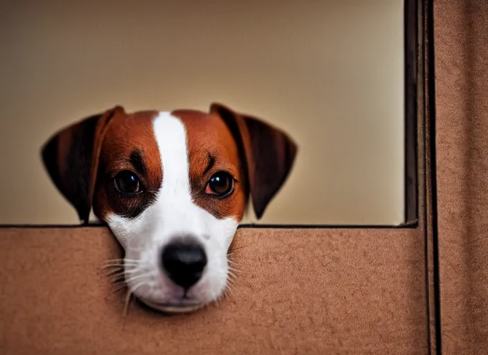
[[[41,155],[80,221],[93,214],[122,245],[130,293],[182,313],[223,295],[248,201],[261,218],[290,175],[297,144],[220,103],[209,112],[126,113],[117,105],[56,132]]]

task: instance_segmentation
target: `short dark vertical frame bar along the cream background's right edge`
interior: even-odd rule
[[[419,26],[417,0],[405,0],[404,21],[404,84],[405,84],[405,223],[419,218],[417,164],[417,47]]]

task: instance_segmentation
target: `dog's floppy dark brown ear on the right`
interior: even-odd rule
[[[218,114],[236,139],[245,162],[254,213],[261,218],[290,174],[297,145],[283,131],[246,114],[239,114],[220,103],[210,112]]]

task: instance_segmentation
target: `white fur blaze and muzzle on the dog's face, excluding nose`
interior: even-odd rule
[[[234,218],[218,219],[193,202],[182,121],[169,112],[160,112],[153,127],[163,168],[157,200],[137,218],[112,214],[107,223],[125,249],[125,280],[130,291],[154,308],[189,311],[216,300],[225,290],[227,250],[238,222]],[[186,234],[204,245],[208,263],[202,279],[186,293],[190,300],[183,302],[183,288],[164,274],[160,260],[162,247]]]

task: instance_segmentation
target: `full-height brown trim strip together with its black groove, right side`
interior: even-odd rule
[[[406,0],[410,1],[410,0]],[[426,338],[428,354],[442,354],[437,262],[437,196],[435,190],[435,92],[433,84],[432,1],[416,2],[417,27],[417,177],[419,227],[424,231]],[[407,6],[407,4],[406,4]],[[429,15],[430,13],[430,15]]]

